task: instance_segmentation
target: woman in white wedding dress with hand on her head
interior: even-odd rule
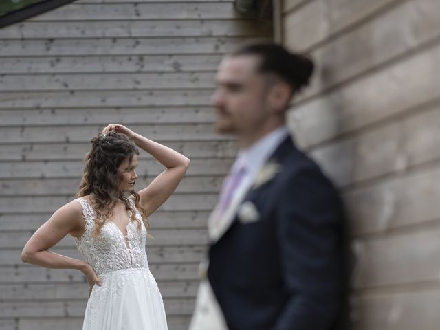
[[[167,329],[162,296],[148,269],[147,217],[170,197],[190,161],[120,124],[109,124],[91,144],[78,198],[32,235],[22,259],[85,274],[90,289],[83,330]],[[166,167],[139,192],[137,147]],[[67,234],[85,261],[49,251]]]

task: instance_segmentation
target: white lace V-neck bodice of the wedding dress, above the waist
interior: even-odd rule
[[[101,228],[100,234],[95,239],[92,236],[94,230],[94,218],[96,212],[87,203],[86,199],[76,199],[83,206],[85,218],[85,233],[80,238],[74,238],[78,250],[83,254],[85,261],[94,268],[98,276],[129,268],[148,268],[145,243],[146,229],[140,212],[135,209],[135,217],[141,221],[142,230],[137,230],[137,222],[133,221],[133,212],[129,211],[130,221],[126,226],[124,236],[115,223],[107,221]]]

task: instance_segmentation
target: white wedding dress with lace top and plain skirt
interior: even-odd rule
[[[96,212],[86,199],[76,200],[83,206],[86,221],[85,234],[75,238],[76,246],[102,281],[102,286],[94,285],[87,302],[83,330],[168,329],[162,296],[148,268],[146,229],[140,212],[136,210],[135,217],[142,230],[137,230],[130,212],[126,236],[108,221],[94,239]]]

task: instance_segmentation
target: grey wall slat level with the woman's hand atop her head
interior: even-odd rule
[[[90,142],[103,126],[63,125],[52,127],[5,127],[0,131],[0,140],[5,143],[39,142]],[[130,128],[151,140],[166,141],[203,141],[221,140],[221,135],[214,133],[212,124],[132,124]]]

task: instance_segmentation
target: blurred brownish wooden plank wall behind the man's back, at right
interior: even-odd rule
[[[439,329],[439,2],[284,0],[281,24],[317,63],[289,125],[347,204],[353,329]]]

